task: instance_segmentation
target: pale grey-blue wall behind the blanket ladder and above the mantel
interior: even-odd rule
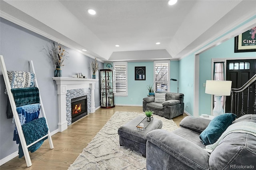
[[[57,85],[52,80],[55,68],[42,51],[43,46],[49,41],[43,36],[0,18],[0,55],[4,56],[7,70],[29,71],[28,61],[33,61],[48,125],[52,132],[58,129]],[[69,52],[69,57],[64,62],[65,66],[62,67],[62,76],[70,77],[70,75],[82,72],[91,78],[89,65],[94,59],[69,48],[66,48],[66,51]],[[103,68],[103,63],[99,62],[99,66]],[[12,141],[14,124],[12,124],[12,119],[6,118],[7,95],[4,94],[4,90],[4,79],[0,71],[0,159],[18,150],[18,144]],[[98,83],[95,87],[95,101],[96,107],[100,106]]]

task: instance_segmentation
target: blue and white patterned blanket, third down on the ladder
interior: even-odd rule
[[[40,104],[36,103],[31,105],[20,106],[17,107],[16,110],[20,119],[20,124],[24,125],[25,123],[38,119],[38,116],[40,114]],[[15,123],[14,118],[12,119],[12,123]],[[20,143],[20,138],[18,135],[16,124],[14,127],[13,141],[16,141],[16,144]]]

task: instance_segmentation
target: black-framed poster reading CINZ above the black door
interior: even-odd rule
[[[256,27],[235,37],[235,53],[256,51]]]

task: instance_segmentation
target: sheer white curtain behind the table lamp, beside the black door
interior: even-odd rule
[[[214,72],[214,76],[213,76],[214,80],[220,80],[220,81],[225,80],[224,62],[214,62],[214,71],[213,72]],[[214,105],[216,103],[215,96],[213,96],[213,99],[214,99],[214,103],[213,103],[213,107],[214,107]],[[224,109],[225,103],[226,103],[226,96],[222,96],[221,104],[222,104],[223,109]]]

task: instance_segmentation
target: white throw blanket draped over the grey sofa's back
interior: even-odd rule
[[[248,134],[252,134],[256,137],[256,123],[254,122],[247,122],[247,121],[241,121],[241,122],[237,122],[234,123],[232,125],[230,125],[220,136],[220,138],[218,138],[218,140],[214,143],[214,144],[209,144],[206,145],[205,150],[209,153],[212,152],[212,150],[214,150],[214,148],[216,148],[218,146],[218,144],[220,143],[220,141],[227,136],[230,133],[233,132],[240,132],[240,133],[248,133]]]

